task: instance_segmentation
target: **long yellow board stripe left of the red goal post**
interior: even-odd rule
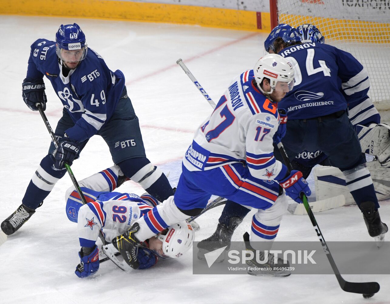
[[[269,13],[192,5],[101,0],[0,0],[0,14],[67,16],[97,19],[196,24],[269,32]],[[260,14],[260,16],[257,16]],[[261,18],[261,29],[258,20]]]

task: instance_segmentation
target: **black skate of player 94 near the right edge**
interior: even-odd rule
[[[385,240],[385,233],[388,231],[387,225],[382,223],[379,211],[375,210],[374,202],[362,202],[360,209],[362,210],[368,233],[374,238],[378,248],[381,247]]]

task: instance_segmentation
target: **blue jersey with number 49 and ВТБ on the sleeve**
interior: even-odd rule
[[[38,39],[31,45],[27,77],[45,75],[75,125],[66,130],[69,138],[84,141],[110,119],[124,89],[124,75],[111,72],[103,58],[88,49],[85,59],[65,77],[54,41]]]

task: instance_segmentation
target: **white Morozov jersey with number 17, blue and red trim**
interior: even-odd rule
[[[275,179],[284,165],[273,156],[280,116],[277,104],[252,83],[253,70],[234,79],[215,110],[195,132],[183,158],[190,171],[243,162],[257,179]],[[285,170],[283,170],[285,172]]]

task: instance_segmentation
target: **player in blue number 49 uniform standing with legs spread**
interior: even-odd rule
[[[56,149],[51,143],[28,184],[22,204],[2,222],[1,229],[8,235],[35,213],[65,175],[64,163],[71,165],[95,134],[107,143],[113,162],[148,193],[160,201],[174,193],[164,173],[145,155],[123,73],[112,72],[103,58],[87,47],[85,35],[76,23],[61,25],[55,38],[38,39],[31,45],[22,96],[33,111],[37,111],[38,105],[46,109],[43,76],[50,81],[64,105],[55,129],[59,146]]]

